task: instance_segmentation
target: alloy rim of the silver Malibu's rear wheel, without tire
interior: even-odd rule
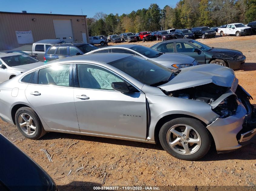
[[[27,135],[34,135],[36,132],[36,124],[34,119],[26,114],[22,113],[20,114],[18,118],[19,126],[21,130],[26,133]]]

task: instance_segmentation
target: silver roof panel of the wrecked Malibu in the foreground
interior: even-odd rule
[[[94,53],[94,54],[86,54],[86,55],[79,55],[79,56],[71,56],[59,60],[54,60],[49,62],[50,63],[71,63],[71,62],[79,62],[79,61],[85,61],[85,60],[92,60],[92,61],[98,61],[103,63],[109,63],[113,62],[115,60],[119,60],[122,58],[126,58],[128,56],[132,56],[130,54],[125,53]]]

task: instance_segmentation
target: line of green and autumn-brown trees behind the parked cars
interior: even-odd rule
[[[175,7],[161,9],[151,4],[148,9],[129,14],[98,12],[87,18],[89,36],[112,35],[124,32],[220,26],[256,20],[256,0],[180,0]]]

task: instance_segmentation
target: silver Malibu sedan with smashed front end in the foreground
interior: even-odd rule
[[[183,160],[256,134],[252,97],[215,64],[169,69],[130,54],[72,56],[0,85],[0,116],[27,138],[64,132],[156,143]]]

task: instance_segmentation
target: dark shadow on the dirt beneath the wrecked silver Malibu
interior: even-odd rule
[[[256,107],[256,105],[254,104]],[[102,137],[93,137],[87,135],[75,135],[75,134],[66,134],[66,133],[58,133],[58,132],[50,132],[43,136],[42,140],[53,140],[58,138],[67,138],[67,139],[76,139],[76,140],[83,140],[83,141],[91,141],[91,142],[101,142],[113,145],[124,145],[129,147],[138,147],[138,148],[146,148],[146,149],[153,149],[153,150],[160,150],[164,151],[160,143],[158,144],[150,144],[150,143],[143,143],[143,142],[135,142],[135,141],[126,141],[120,139],[112,139],[112,138],[102,138]],[[222,161],[222,160],[232,160],[232,159],[239,159],[239,160],[256,160],[256,142],[252,142],[244,147],[224,154],[217,154],[216,148],[214,143],[212,143],[211,148],[203,158],[199,161]]]

